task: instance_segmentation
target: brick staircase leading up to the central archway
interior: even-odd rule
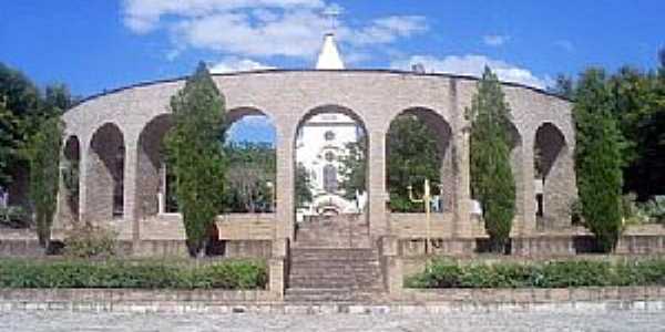
[[[290,249],[285,300],[371,302],[383,292],[378,250],[358,216],[301,224]]]

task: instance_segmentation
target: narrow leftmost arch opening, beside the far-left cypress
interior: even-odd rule
[[[61,176],[63,186],[61,187],[61,218],[79,221],[81,142],[76,135],[70,135],[64,141],[62,160]]]

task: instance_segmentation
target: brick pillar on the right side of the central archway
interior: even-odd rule
[[[368,128],[369,154],[367,156],[367,186],[369,193],[369,232],[374,239],[388,234],[386,203],[386,133]]]

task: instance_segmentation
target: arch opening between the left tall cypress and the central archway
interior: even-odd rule
[[[232,158],[232,165],[227,168],[227,181],[232,188],[244,188],[244,190],[233,190],[232,197],[228,200],[232,206],[227,206],[225,211],[234,212],[234,214],[256,214],[256,212],[275,212],[277,208],[276,204],[276,190],[277,190],[277,146],[278,146],[278,128],[273,115],[266,110],[258,108],[255,106],[241,106],[234,107],[227,112],[226,116],[226,147],[228,148],[228,143],[233,137],[229,135],[229,131],[234,125],[252,125],[252,123],[243,123],[245,118],[254,117],[259,118],[259,125],[269,125],[272,127],[272,135],[265,136],[263,138],[267,138],[267,142],[260,143],[269,143],[272,146],[272,163],[274,165],[268,169],[259,168],[260,164],[255,164],[254,162],[249,162],[246,158],[235,158],[233,154],[228,154],[227,157]],[[256,123],[255,123],[256,124]],[[266,134],[267,132],[262,133],[253,133],[256,134]],[[246,133],[245,133],[246,134]],[[256,137],[255,137],[256,138]],[[244,139],[243,139],[244,141]],[[252,142],[252,143],[259,143]],[[243,142],[235,142],[236,144],[242,144]],[[236,146],[238,148],[246,148],[246,145]],[[260,151],[265,152],[264,146],[254,146],[255,148],[260,148]],[[231,151],[232,153],[235,149]],[[250,151],[249,151],[250,152]],[[256,149],[255,149],[256,152]],[[257,156],[257,155],[255,155]],[[260,155],[258,155],[260,156]],[[242,157],[242,155],[238,155]],[[264,156],[270,157],[270,156]],[[249,163],[249,164],[248,164]],[[270,174],[272,173],[272,174]],[[255,179],[252,181],[246,181],[246,179]],[[243,204],[244,203],[244,204]]]

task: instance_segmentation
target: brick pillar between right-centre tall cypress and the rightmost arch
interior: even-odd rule
[[[533,184],[533,135],[524,135],[522,144],[522,195],[516,195],[521,198],[521,219],[522,225],[519,229],[521,236],[531,236],[535,232],[535,186]],[[516,187],[520,190],[520,187]]]

